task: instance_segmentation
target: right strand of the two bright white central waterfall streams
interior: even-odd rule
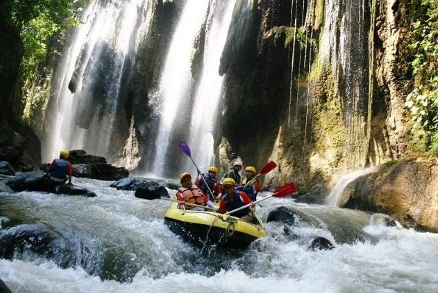
[[[224,2],[221,2],[224,5]],[[203,69],[198,90],[194,98],[189,142],[195,162],[200,168],[207,168],[214,153],[214,118],[221,99],[223,77],[219,75],[219,63],[228,34],[235,1],[228,1],[224,7],[217,4],[211,14],[210,29],[205,44]],[[216,10],[219,10],[215,12]]]

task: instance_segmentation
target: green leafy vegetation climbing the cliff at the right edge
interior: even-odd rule
[[[414,90],[405,106],[414,120],[414,145],[438,156],[438,2],[423,0],[421,11],[412,28]]]

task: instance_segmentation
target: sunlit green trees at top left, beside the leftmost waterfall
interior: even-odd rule
[[[51,68],[47,58],[48,52],[57,46],[54,36],[78,24],[82,7],[89,1],[5,0],[0,4],[1,22],[15,29],[24,45],[15,93],[15,99],[22,101],[17,106],[18,111],[23,111],[15,115],[23,115],[24,121],[31,121],[34,110],[42,106],[49,95]],[[53,53],[58,52],[53,50]]]

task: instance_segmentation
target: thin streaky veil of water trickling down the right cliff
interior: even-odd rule
[[[345,154],[350,166],[364,163],[367,149],[368,54],[366,1],[326,1],[321,62],[339,80],[335,94],[343,99],[347,131]],[[338,15],[342,15],[339,22]]]

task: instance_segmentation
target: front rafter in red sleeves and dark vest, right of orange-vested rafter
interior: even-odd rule
[[[236,183],[233,178],[225,178],[222,182],[222,198],[221,201],[219,201],[219,212],[221,214],[225,214],[226,212],[230,212],[231,210],[235,210],[253,202],[249,198],[248,194],[242,190],[234,190],[235,185]],[[253,212],[251,212],[250,207],[237,210],[236,212],[232,212],[230,215],[239,217],[240,219],[249,221],[250,223],[255,223]]]

